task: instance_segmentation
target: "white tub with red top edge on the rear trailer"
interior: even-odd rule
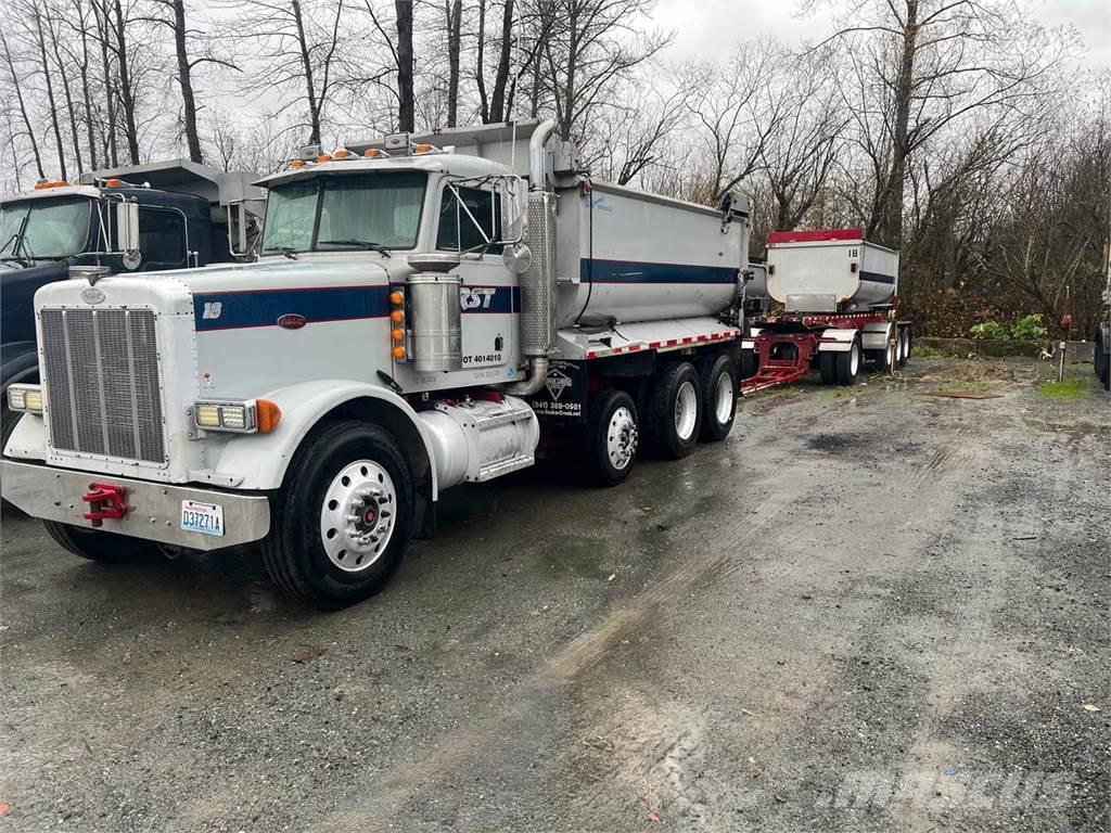
[[[859,229],[768,235],[768,293],[789,312],[863,312],[899,290],[899,252]]]

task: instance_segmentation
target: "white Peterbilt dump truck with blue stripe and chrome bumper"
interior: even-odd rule
[[[745,200],[577,168],[550,121],[311,151],[259,183],[258,262],[43,287],[3,495],[97,560],[261,542],[341,608],[541,440],[614,484],[642,443],[723,439]]]

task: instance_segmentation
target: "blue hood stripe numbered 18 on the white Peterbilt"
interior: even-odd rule
[[[277,327],[290,313],[310,324],[383,318],[390,314],[389,292],[380,284],[210,292],[193,295],[193,318],[199,331]]]

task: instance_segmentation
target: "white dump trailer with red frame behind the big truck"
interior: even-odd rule
[[[825,384],[852,384],[864,360],[905,364],[911,324],[898,318],[899,252],[859,229],[768,235],[764,295],[782,307],[747,320],[742,390],[755,393],[817,369]],[[760,298],[759,288],[745,297]]]

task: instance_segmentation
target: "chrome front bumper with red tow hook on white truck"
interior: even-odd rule
[[[104,532],[143,538],[194,550],[219,550],[266,538],[270,531],[270,501],[261,494],[236,494],[211,489],[151,483],[108,474],[52,469],[41,463],[0,461],[0,488],[10,503],[32,518],[92,529],[83,518],[89,504],[81,495],[92,483],[111,483],[127,490],[128,512],[107,519]],[[223,506],[223,535],[181,529],[181,502],[190,500]]]

